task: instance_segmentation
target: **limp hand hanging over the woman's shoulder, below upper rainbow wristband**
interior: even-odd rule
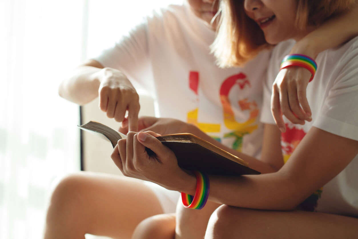
[[[306,88],[311,72],[303,67],[282,69],[272,85],[271,113],[281,132],[286,126],[282,115],[294,124],[311,121],[311,109],[306,97]]]

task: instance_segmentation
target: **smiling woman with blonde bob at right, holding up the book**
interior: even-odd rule
[[[229,36],[229,42],[236,44],[238,41],[232,39],[237,36],[230,35],[235,32],[230,29],[239,30],[239,19],[241,27],[246,24],[240,18],[243,4],[223,3],[229,13],[223,12],[227,21],[222,23],[232,25],[223,28],[229,29],[221,32],[223,35],[219,31],[219,37]],[[348,0],[246,0],[245,10],[262,28],[266,41],[277,44],[302,39],[327,18],[354,4]],[[297,16],[305,16],[301,24]],[[281,135],[270,112],[270,91],[293,44],[286,41],[276,46],[265,84],[261,161],[277,170],[241,177],[210,176],[209,200],[225,205],[211,215],[205,238],[355,238],[358,233],[358,38],[318,54],[318,70],[307,89],[313,120],[295,125],[284,119],[287,130]],[[235,49],[233,56],[240,50],[231,45],[228,48]],[[281,70],[279,77],[285,73]],[[278,101],[274,97],[272,102],[274,111]],[[130,132],[127,139],[118,141],[113,161],[126,176],[194,195],[195,176],[178,167],[173,152],[156,136],[153,132]],[[149,157],[145,147],[156,157]],[[249,163],[253,160],[243,158]],[[197,211],[192,212],[195,218]],[[181,221],[175,237],[195,238],[182,232],[190,227],[198,230],[196,226],[193,221]]]

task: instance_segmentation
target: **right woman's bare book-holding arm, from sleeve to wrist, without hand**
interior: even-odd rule
[[[267,150],[262,154],[270,154]],[[357,153],[358,141],[312,127],[278,172],[210,177],[209,200],[238,207],[291,210],[342,171]],[[194,195],[195,177],[189,176],[184,185],[182,190]]]

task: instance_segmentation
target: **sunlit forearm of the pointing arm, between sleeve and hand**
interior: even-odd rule
[[[58,93],[61,97],[76,104],[86,104],[98,97],[101,68],[92,66],[79,66],[71,77],[61,82]]]

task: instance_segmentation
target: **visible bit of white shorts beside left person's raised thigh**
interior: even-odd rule
[[[153,182],[145,181],[144,183],[154,192],[164,213],[175,212],[176,204],[180,197],[180,192],[168,190]]]

